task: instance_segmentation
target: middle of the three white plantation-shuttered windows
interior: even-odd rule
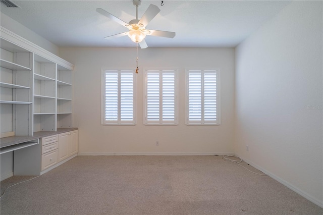
[[[145,70],[145,125],[178,125],[178,70]]]

